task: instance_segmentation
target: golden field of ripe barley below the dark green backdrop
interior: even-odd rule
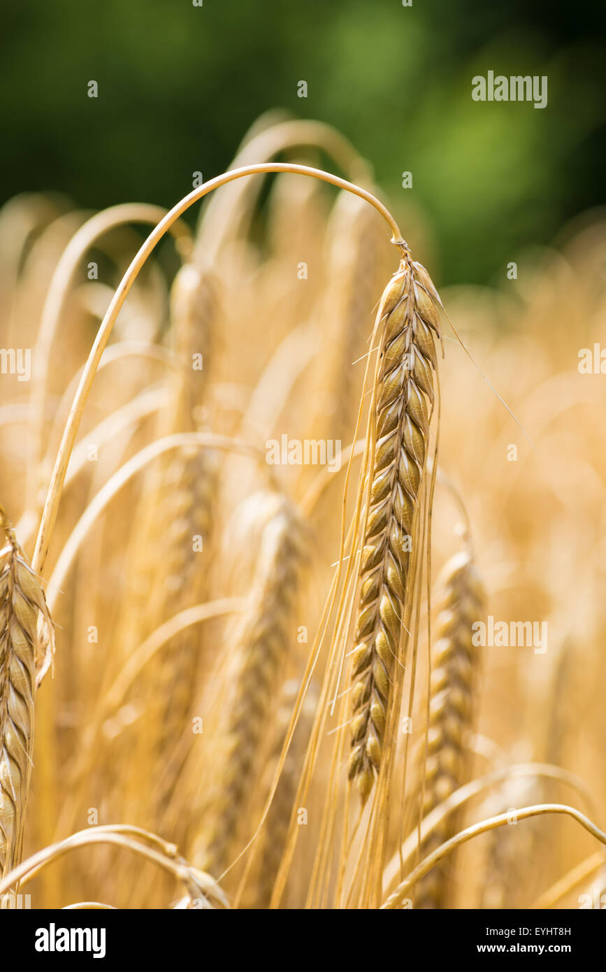
[[[511,260],[313,121],[4,206],[0,895],[606,905],[606,215]]]

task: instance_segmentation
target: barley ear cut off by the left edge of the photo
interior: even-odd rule
[[[0,871],[19,861],[25,803],[31,771],[36,668],[43,636],[51,642],[50,617],[43,590],[17,543],[0,506]],[[50,643],[50,651],[51,651]]]

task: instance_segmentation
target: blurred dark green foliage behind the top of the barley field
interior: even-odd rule
[[[91,208],[169,206],[274,107],[341,128],[394,208],[411,193],[441,283],[501,275],[603,201],[603,0],[0,6],[0,201],[53,190]],[[547,75],[547,108],[474,102],[471,79],[488,70]]]

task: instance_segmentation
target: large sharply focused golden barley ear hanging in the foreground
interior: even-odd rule
[[[378,311],[383,328],[352,672],[349,776],[362,801],[379,772],[390,685],[411,603],[411,544],[420,506],[440,336],[439,297],[408,251]]]

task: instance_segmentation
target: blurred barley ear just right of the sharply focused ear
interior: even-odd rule
[[[431,652],[423,817],[465,782],[468,770],[465,739],[472,728],[480,662],[472,625],[482,617],[484,604],[480,576],[469,547],[446,564],[442,584],[438,639]],[[447,841],[456,829],[455,818],[445,818],[421,843],[421,857]],[[436,866],[419,886],[416,907],[443,908],[445,899],[445,871]]]

